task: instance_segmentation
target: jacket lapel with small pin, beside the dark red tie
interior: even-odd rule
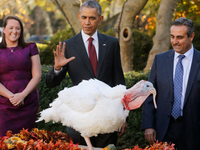
[[[97,66],[97,78],[100,74],[100,70],[103,64],[103,60],[106,54],[106,49],[108,47],[108,42],[106,41],[105,36],[103,36],[101,33],[98,33],[99,38],[99,59],[98,59],[98,66]]]

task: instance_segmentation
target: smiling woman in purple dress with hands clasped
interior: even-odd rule
[[[17,16],[3,22],[0,43],[0,137],[35,127],[41,64],[35,43],[26,43]]]

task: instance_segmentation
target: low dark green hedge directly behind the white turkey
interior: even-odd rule
[[[46,109],[49,107],[49,103],[51,103],[55,98],[57,98],[57,93],[64,89],[64,87],[71,86],[71,80],[67,75],[66,78],[62,81],[62,83],[55,88],[47,88],[45,84],[45,75],[50,69],[51,66],[42,65],[42,79],[38,86],[39,96],[40,96],[40,107],[39,111]],[[128,72],[125,73],[125,81],[127,88],[132,87],[139,80],[147,80],[148,73],[140,73],[140,72]],[[125,135],[121,136],[118,140],[117,149],[123,148],[132,148],[135,145],[139,145],[140,147],[145,147],[147,143],[144,140],[144,133],[141,131],[141,117],[142,117],[142,108],[132,110],[129,114],[128,121],[128,130]],[[36,123],[36,127],[39,129],[45,129],[48,131],[62,131],[66,133],[66,127],[63,127],[61,123],[53,124],[52,122],[44,123],[44,121]]]

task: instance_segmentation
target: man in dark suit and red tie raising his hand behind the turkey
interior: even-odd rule
[[[111,87],[125,84],[120,60],[120,47],[117,38],[101,34],[97,31],[98,24],[103,20],[99,3],[88,0],[84,2],[78,14],[82,30],[79,34],[57,46],[54,51],[54,62],[46,75],[48,87],[55,87],[65,78],[66,72],[73,85],[90,78],[99,79]],[[89,38],[92,37],[92,43]],[[91,50],[94,50],[91,52]],[[91,53],[95,53],[92,55]],[[94,59],[95,58],[95,59]],[[109,108],[108,108],[109,109]],[[123,134],[126,123],[123,125]],[[80,134],[67,127],[69,136],[75,143],[85,144]],[[106,147],[117,142],[117,132],[99,134],[90,138],[94,147]]]

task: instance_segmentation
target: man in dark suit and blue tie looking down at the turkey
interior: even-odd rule
[[[149,81],[157,90],[158,108],[148,97],[142,116],[142,129],[150,144],[158,140],[172,142],[178,150],[200,149],[200,52],[192,45],[194,35],[191,20],[175,20],[171,26],[173,49],[154,58]]]

